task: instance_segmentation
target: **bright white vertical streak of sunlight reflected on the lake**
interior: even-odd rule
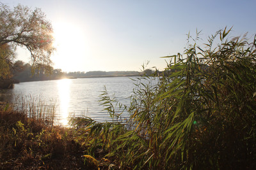
[[[60,99],[61,124],[68,124],[68,105],[70,102],[70,79],[58,80],[58,92]]]

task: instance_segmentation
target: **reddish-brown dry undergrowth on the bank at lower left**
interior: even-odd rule
[[[0,169],[108,169],[86,155],[73,129],[45,125],[8,106],[0,108]],[[97,154],[100,155],[100,154]]]

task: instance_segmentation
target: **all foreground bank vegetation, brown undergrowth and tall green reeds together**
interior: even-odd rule
[[[245,36],[228,39],[230,30],[224,29],[203,48],[197,44],[198,34],[195,39],[188,35],[183,55],[169,56],[172,60],[161,76],[155,72],[138,78],[131,106],[122,106],[104,91],[101,102],[113,122],[72,118],[72,129],[61,130],[35,125],[5,108],[1,165],[255,169],[256,38],[252,43]],[[140,81],[152,78],[158,83]],[[122,118],[122,111],[130,117]]]

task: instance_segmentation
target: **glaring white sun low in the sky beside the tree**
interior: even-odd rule
[[[54,43],[56,52],[52,56],[55,68],[62,71],[76,71],[77,64],[84,62],[88,54],[88,44],[81,27],[70,22],[56,22],[54,29]]]

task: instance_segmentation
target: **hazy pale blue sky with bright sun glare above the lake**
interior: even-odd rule
[[[256,34],[256,1],[225,0],[0,0],[41,8],[52,22],[63,71],[140,71],[166,66],[160,57],[182,53],[186,34],[202,30],[202,43],[233,26],[232,36]],[[27,54],[27,55],[26,55]],[[18,59],[28,60],[19,50]]]

